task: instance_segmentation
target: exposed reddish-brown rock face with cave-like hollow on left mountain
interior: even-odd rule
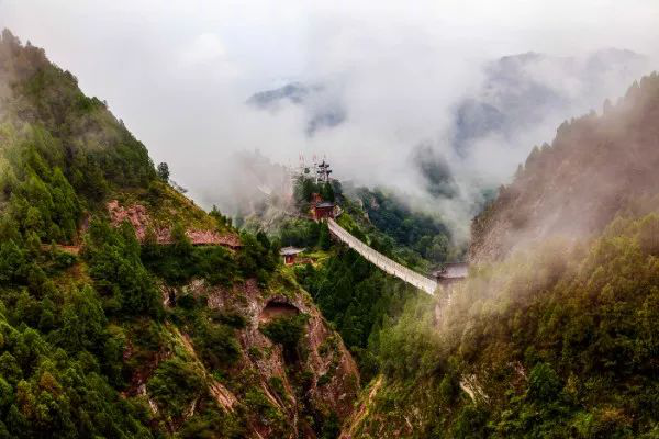
[[[260,391],[269,403],[289,419],[290,437],[315,437],[306,421],[309,416],[333,414],[343,421],[351,414],[359,392],[359,372],[338,334],[328,327],[304,292],[291,288],[271,294],[259,289],[256,281],[233,288],[209,286],[197,281],[183,290],[205,296],[212,309],[238,313],[246,318],[247,324],[238,335],[243,353],[235,369],[260,383]],[[299,344],[300,353],[291,360],[259,327],[272,319],[298,314],[309,318]],[[283,394],[275,382],[281,382]],[[228,392],[239,393],[230,384],[226,387]],[[257,418],[252,419],[252,428],[263,438],[281,435]]]

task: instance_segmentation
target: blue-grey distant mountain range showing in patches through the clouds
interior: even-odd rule
[[[495,176],[483,180],[473,168],[474,160],[478,162],[483,154],[499,155],[498,169],[509,175],[534,143],[551,138],[560,122],[601,109],[607,98],[621,95],[628,83],[649,70],[648,58],[616,48],[573,57],[539,53],[504,56],[483,65],[480,85],[466,87],[476,91],[466,91],[453,103],[437,103],[439,110],[442,105],[449,108],[448,124],[436,128],[444,139],[440,145],[418,138],[416,144],[401,147],[409,148],[410,166],[432,198],[470,198],[459,188],[472,185],[489,193],[503,181],[496,181]],[[331,81],[290,82],[253,94],[247,104],[275,117],[287,105],[302,109],[309,137],[350,122],[346,94]],[[460,161],[474,169],[474,175],[457,176],[463,173],[458,171],[463,168]],[[463,178],[471,180],[457,181]],[[476,213],[482,202],[469,209]]]

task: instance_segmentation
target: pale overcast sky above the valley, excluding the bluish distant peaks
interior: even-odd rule
[[[107,100],[206,205],[243,149],[284,164],[327,154],[344,178],[413,185],[406,148],[442,142],[484,60],[605,47],[656,57],[658,23],[656,0],[0,0],[0,27]],[[310,139],[299,109],[271,117],[244,104],[289,80],[344,85],[350,123]],[[509,172],[510,159],[487,160],[498,159]]]

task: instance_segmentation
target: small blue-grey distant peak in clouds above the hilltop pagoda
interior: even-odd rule
[[[336,90],[326,86],[291,82],[278,89],[254,93],[247,99],[247,104],[272,113],[277,113],[287,103],[301,106],[306,113],[306,135],[313,136],[316,132],[337,126],[346,120],[346,110],[335,92]]]

